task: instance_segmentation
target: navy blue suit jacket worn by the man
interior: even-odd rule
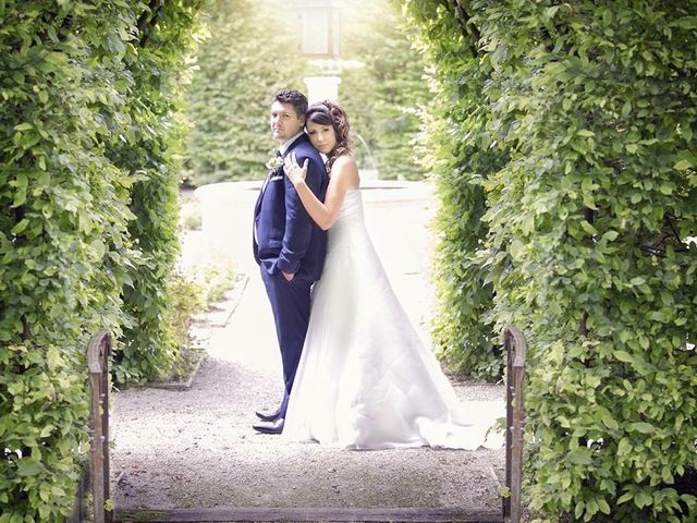
[[[305,183],[321,200],[329,178],[319,153],[306,134],[298,136],[283,158],[295,153],[302,166],[308,159]],[[276,169],[267,175],[254,210],[254,258],[270,275],[278,270],[319,279],[327,251],[327,233],[309,217],[293,183]]]

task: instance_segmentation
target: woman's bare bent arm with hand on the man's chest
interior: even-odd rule
[[[346,191],[358,187],[358,167],[348,155],[337,158],[331,168],[325,202],[319,200],[305,183],[306,167],[299,167],[291,159],[286,162],[285,173],[293,182],[307,214],[326,231],[337,221]]]

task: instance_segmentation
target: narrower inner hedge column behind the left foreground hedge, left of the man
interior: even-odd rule
[[[127,46],[130,83],[123,139],[108,155],[134,177],[129,232],[138,250],[123,287],[124,328],[115,378],[144,381],[166,374],[179,345],[169,321],[169,281],[179,254],[176,224],[183,129],[176,111],[182,98],[182,69],[203,0],[151,2],[137,20],[137,39]]]

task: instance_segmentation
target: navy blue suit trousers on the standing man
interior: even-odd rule
[[[283,362],[283,400],[279,408],[279,417],[285,417],[288,401],[293,388],[295,372],[301,361],[305,335],[309,324],[310,288],[313,281],[301,270],[293,280],[288,281],[277,270],[273,275],[261,267],[261,279],[271,302],[276,335]]]

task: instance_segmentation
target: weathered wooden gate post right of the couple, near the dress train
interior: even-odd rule
[[[503,498],[503,519],[506,523],[519,523],[523,487],[523,428],[525,409],[523,385],[527,344],[523,333],[513,326],[505,329],[504,345],[506,365],[505,416],[505,484],[510,496]]]

